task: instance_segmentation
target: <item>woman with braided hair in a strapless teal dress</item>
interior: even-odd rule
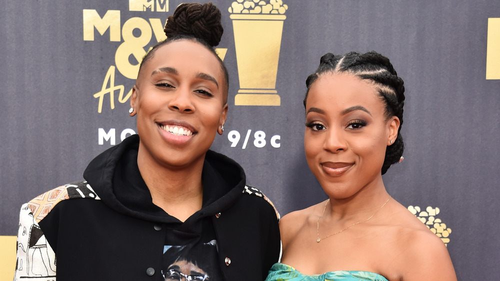
[[[305,156],[328,200],[281,219],[266,281],[456,280],[444,243],[382,182],[403,152],[404,86],[389,60],[328,53],[306,86]]]

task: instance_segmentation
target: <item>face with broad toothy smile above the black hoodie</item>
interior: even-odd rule
[[[139,157],[168,168],[202,164],[227,114],[220,63],[199,43],[157,48],[141,67],[130,97]]]

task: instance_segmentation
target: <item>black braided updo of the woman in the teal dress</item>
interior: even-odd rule
[[[397,138],[394,143],[387,146],[385,150],[385,158],[381,170],[382,175],[385,174],[390,165],[399,161],[404,150],[404,143],[401,137],[404,105],[403,80],[397,76],[397,73],[389,59],[375,51],[363,54],[349,52],[344,55],[327,53],[321,57],[317,70],[309,75],[305,81],[307,91],[303,101],[304,107],[311,85],[321,74],[326,72],[346,72],[353,74],[360,79],[370,80],[374,84],[380,99],[384,103],[386,120],[392,116],[399,118]]]

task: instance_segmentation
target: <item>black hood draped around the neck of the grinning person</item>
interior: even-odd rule
[[[102,202],[118,213],[141,220],[179,223],[152,203],[137,167],[138,135],[124,139],[95,157],[83,173]],[[213,216],[230,207],[242,195],[246,177],[232,159],[208,150],[201,174],[203,202],[186,222]]]

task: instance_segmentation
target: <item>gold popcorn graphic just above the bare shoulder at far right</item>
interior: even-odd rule
[[[441,241],[444,243],[444,245],[447,247],[449,243],[449,234],[451,233],[451,229],[446,227],[446,224],[444,224],[440,219],[436,218],[435,216],[439,214],[439,208],[432,208],[428,206],[425,208],[425,211],[421,211],[420,207],[418,206],[408,206],[408,211],[411,212],[411,214],[415,215],[420,222],[425,224],[430,231],[437,235],[441,239]]]

